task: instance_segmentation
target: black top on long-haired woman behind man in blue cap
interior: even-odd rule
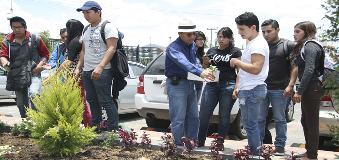
[[[68,71],[71,73],[74,72],[76,65],[78,65],[81,49],[82,40],[80,40],[80,37],[78,37],[69,42],[66,51],[63,53],[65,59],[73,61],[73,64],[71,64],[68,69]],[[82,69],[83,67],[80,70],[80,74],[82,74]]]

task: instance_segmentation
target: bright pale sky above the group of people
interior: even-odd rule
[[[60,38],[59,30],[69,19],[78,19],[85,26],[88,22],[76,8],[87,0],[12,0],[14,16],[23,17],[28,31],[33,33],[49,30],[52,38]],[[279,22],[281,38],[293,41],[294,25],[312,21],[317,27],[327,28],[329,22],[322,20],[325,13],[323,0],[96,0],[102,9],[102,18],[112,22],[125,34],[124,45],[144,46],[157,44],[167,46],[178,37],[179,18],[191,18],[197,27],[210,39],[207,28],[233,30],[236,47],[246,45],[238,35],[234,19],[245,11],[254,12],[259,22],[275,19]],[[11,1],[0,0],[0,32],[8,32]],[[216,38],[217,30],[212,32]],[[171,39],[169,39],[171,37]],[[330,44],[329,44],[330,45]],[[336,44],[332,44],[338,46]]]

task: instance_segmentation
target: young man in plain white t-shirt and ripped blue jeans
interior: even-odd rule
[[[260,104],[266,96],[265,80],[268,75],[270,49],[259,34],[259,20],[256,15],[245,12],[235,19],[238,34],[250,42],[245,48],[241,61],[232,58],[230,65],[240,68],[233,98],[239,98],[241,122],[247,132],[251,152],[259,155],[257,147],[261,146],[258,116]]]

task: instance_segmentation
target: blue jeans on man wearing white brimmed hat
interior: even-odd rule
[[[174,143],[181,146],[184,131],[188,139],[198,139],[200,121],[194,81],[179,79],[178,85],[172,85],[171,78],[167,78],[166,90]]]

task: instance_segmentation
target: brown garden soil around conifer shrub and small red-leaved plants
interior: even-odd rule
[[[48,157],[40,151],[37,144],[33,144],[31,137],[23,135],[11,135],[12,133],[0,133],[0,146],[15,146],[12,151],[20,151],[12,160],[188,160],[188,154],[164,156],[157,150],[147,150],[131,147],[128,150],[124,146],[113,146],[111,149],[103,149],[100,144],[84,146],[74,156]],[[21,150],[18,150],[18,148]],[[145,159],[142,159],[144,157]],[[211,160],[210,155],[192,154],[191,160]]]

